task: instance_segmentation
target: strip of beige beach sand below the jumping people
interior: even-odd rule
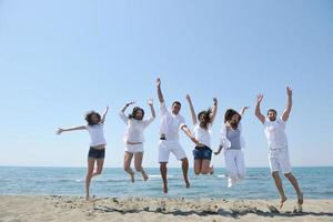
[[[0,221],[333,221],[333,200],[305,200],[303,212],[295,200],[280,212],[268,205],[278,200],[0,195]]]

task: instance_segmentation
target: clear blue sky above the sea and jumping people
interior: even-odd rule
[[[191,93],[196,111],[218,97],[213,148],[226,108],[251,105],[243,119],[249,167],[268,167],[263,127],[254,117],[285,107],[293,165],[333,165],[333,1],[0,1],[0,165],[85,167],[87,132],[54,134],[84,124],[88,110],[111,110],[105,165],[122,167],[130,100],[149,111],[155,78],[168,104]],[[149,112],[147,112],[149,113]],[[158,110],[159,114],[159,110]],[[158,167],[159,118],[147,130],[144,165]],[[193,145],[181,135],[191,164]],[[222,155],[213,164],[223,167]],[[179,163],[171,158],[171,167]]]

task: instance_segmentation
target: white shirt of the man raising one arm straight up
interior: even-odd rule
[[[179,130],[185,125],[185,119],[181,114],[173,114],[165,103],[161,103],[161,125],[160,133],[165,134],[167,140],[179,140]]]

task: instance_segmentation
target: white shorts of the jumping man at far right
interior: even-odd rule
[[[289,158],[287,148],[283,149],[270,149],[269,152],[271,172],[291,172],[291,163]]]

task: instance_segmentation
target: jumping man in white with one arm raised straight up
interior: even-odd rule
[[[160,172],[163,180],[163,192],[168,193],[167,164],[169,162],[170,152],[173,153],[178,160],[182,161],[184,181],[186,188],[190,188],[190,182],[188,179],[189,161],[185,151],[179,142],[179,131],[183,130],[194,143],[199,144],[199,142],[186,127],[185,119],[179,113],[181,110],[181,103],[179,101],[174,101],[172,103],[171,111],[169,111],[164,103],[160,79],[157,80],[157,88],[161,107],[159,162]]]

